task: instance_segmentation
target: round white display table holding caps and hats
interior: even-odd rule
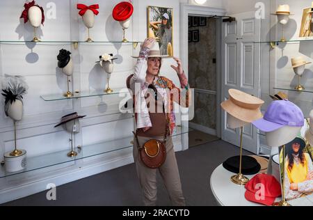
[[[212,173],[210,179],[211,190],[219,205],[223,206],[263,206],[259,203],[252,203],[245,198],[245,187],[234,184],[230,177],[234,173],[227,171],[222,164],[218,166]],[[246,175],[251,179],[254,175]],[[280,201],[281,198],[276,198]],[[294,206],[313,206],[313,194],[303,198],[297,198],[289,201],[290,205]]]

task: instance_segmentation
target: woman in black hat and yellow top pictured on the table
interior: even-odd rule
[[[310,155],[303,152],[305,141],[296,137],[286,145],[285,165],[286,198],[298,198],[313,192],[313,165]]]

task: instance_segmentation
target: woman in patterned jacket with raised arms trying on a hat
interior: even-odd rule
[[[136,138],[134,139],[134,162],[145,205],[156,205],[157,170],[161,173],[172,205],[186,205],[170,135],[175,128],[173,102],[188,107],[188,81],[179,58],[174,58],[177,66],[171,67],[177,72],[180,84],[185,89],[184,91],[187,91],[186,93],[177,88],[170,79],[159,75],[161,58],[165,57],[168,56],[160,54],[156,40],[147,38],[141,46],[135,72],[127,79],[127,87],[131,88],[135,97],[136,135],[139,145],[143,146],[151,139],[163,141],[166,137],[166,160],[159,168],[148,168],[143,164],[138,155]]]

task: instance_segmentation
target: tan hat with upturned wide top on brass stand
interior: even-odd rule
[[[263,100],[233,88],[228,93],[230,99],[222,102],[220,106],[231,116],[246,123],[262,118],[260,107],[264,104]]]

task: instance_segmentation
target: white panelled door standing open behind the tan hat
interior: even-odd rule
[[[224,22],[222,29],[222,101],[228,90],[235,88],[259,97],[261,19],[255,12],[232,15],[236,22]],[[240,129],[227,127],[227,113],[222,109],[222,139],[239,146]],[[257,129],[248,125],[243,129],[243,148],[257,153]]]

